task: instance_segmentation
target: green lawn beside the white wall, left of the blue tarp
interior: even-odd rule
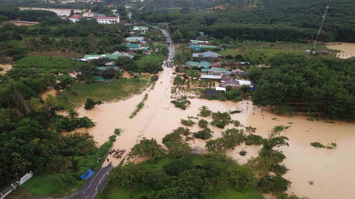
[[[67,184],[56,190],[58,183],[50,177],[50,172],[34,175],[21,185],[21,188],[26,189],[31,194],[50,196],[50,197],[63,197],[75,193],[83,184],[85,180],[78,180],[78,183]]]

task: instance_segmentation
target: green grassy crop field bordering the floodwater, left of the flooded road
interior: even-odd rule
[[[131,95],[141,93],[148,86],[147,79],[119,79],[110,83],[71,83],[70,89],[65,89],[57,96],[59,105],[65,109],[69,107],[79,107],[83,105],[87,98],[101,100],[103,102],[113,102],[126,99]]]

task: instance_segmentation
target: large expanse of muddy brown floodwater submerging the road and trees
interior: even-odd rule
[[[354,159],[352,152],[355,151],[355,135],[354,123],[345,123],[337,121],[336,124],[324,123],[323,121],[307,121],[305,117],[294,116],[278,116],[264,111],[260,114],[260,109],[256,109],[253,115],[253,107],[249,106],[246,113],[247,104],[250,102],[221,102],[217,100],[209,101],[206,99],[190,99],[191,105],[186,110],[175,108],[170,103],[170,87],[173,78],[174,69],[165,68],[159,74],[159,80],[155,84],[153,90],[146,90],[140,95],[132,96],[124,101],[115,103],[104,103],[95,106],[92,110],[85,110],[83,107],[77,111],[80,116],[88,116],[96,124],[96,126],[87,129],[94,136],[94,140],[98,142],[98,146],[108,141],[108,137],[113,135],[116,128],[124,131],[120,136],[116,137],[113,147],[126,149],[127,155],[129,150],[142,138],[154,138],[159,144],[162,144],[162,138],[165,134],[172,132],[180,124],[180,118],[187,116],[197,116],[198,108],[206,105],[210,110],[229,111],[243,110],[242,113],[231,115],[232,119],[239,120],[244,126],[256,127],[257,135],[267,136],[267,132],[275,125],[290,125],[288,130],[282,132],[287,136],[289,147],[280,147],[284,152],[286,159],[283,164],[290,169],[283,177],[292,181],[291,187],[287,193],[294,192],[296,195],[305,195],[309,198],[355,198],[352,192],[353,176],[355,176]],[[162,81],[162,83],[160,83]],[[136,105],[142,101],[145,93],[148,93],[148,99],[144,102],[144,107],[137,113],[135,117],[129,119],[129,115],[135,109]],[[201,118],[201,117],[199,117]],[[277,120],[272,120],[277,118]],[[206,119],[206,118],[204,118]],[[207,118],[212,121],[212,118]],[[197,121],[197,120],[196,120]],[[292,122],[293,124],[288,124]],[[230,124],[227,128],[232,128]],[[192,132],[201,130],[198,125],[190,127]],[[224,129],[224,130],[225,130]],[[78,129],[77,131],[85,131],[86,129]],[[217,127],[211,127],[214,131],[213,138],[221,136]],[[321,142],[324,145],[331,141],[338,144],[338,149],[317,149],[310,146],[311,142]],[[205,142],[199,139],[189,141],[191,147],[201,146],[204,148]],[[248,152],[245,157],[239,155],[239,151],[246,147]],[[251,156],[257,156],[260,146],[237,146],[235,150],[227,154],[239,161],[240,164],[246,163]],[[117,166],[121,159],[108,157],[113,165]],[[122,157],[123,158],[123,157]],[[146,158],[137,159],[137,161]],[[103,164],[106,166],[107,162]],[[310,185],[308,181],[314,181]],[[272,198],[271,194],[265,195]]]

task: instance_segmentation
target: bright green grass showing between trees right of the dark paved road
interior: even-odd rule
[[[192,163],[194,165],[203,165],[203,161],[198,156],[191,156]],[[163,158],[155,159],[154,161],[147,160],[140,163],[143,167],[149,170],[162,170],[165,164],[173,161],[173,158],[165,155]],[[148,198],[154,198],[152,188],[147,188],[142,191],[132,191],[127,187],[115,186],[112,183],[108,183],[103,191],[100,192],[97,199],[116,199],[116,198],[140,198],[142,195],[147,196]],[[246,191],[246,192],[237,192],[232,184],[229,184],[225,189],[221,191],[215,191],[208,195],[206,199],[215,199],[215,198],[241,198],[241,199],[263,199],[262,194],[256,190]]]

